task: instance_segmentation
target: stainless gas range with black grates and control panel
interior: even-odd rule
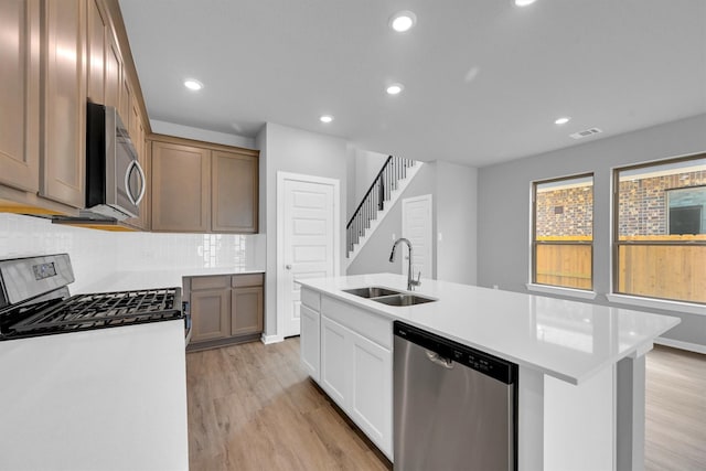
[[[181,288],[69,296],[73,281],[67,254],[0,260],[0,341],[185,319]]]

